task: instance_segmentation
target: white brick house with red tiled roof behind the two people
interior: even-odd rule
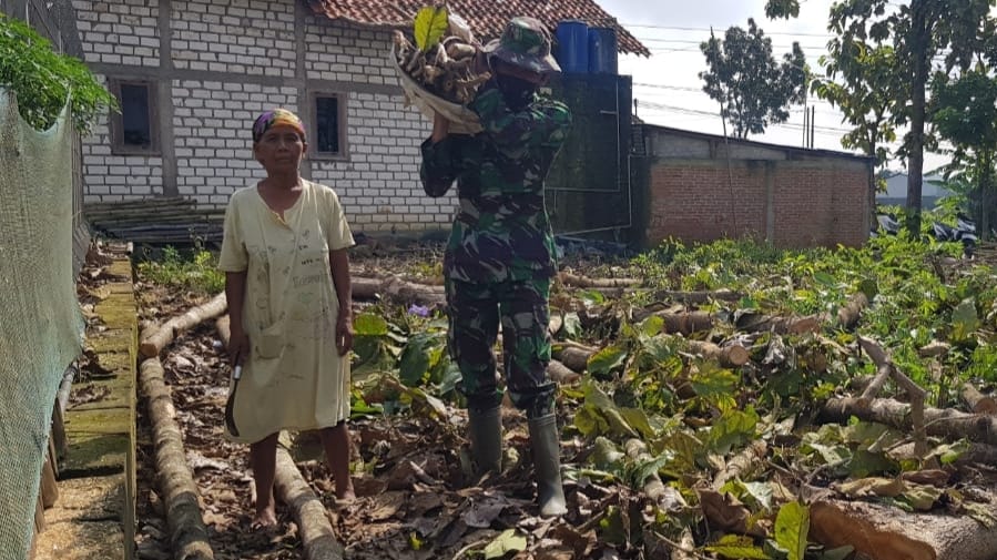
[[[423,0],[72,0],[83,55],[118,95],[83,142],[84,202],[184,196],[223,206],[262,176],[248,128],[287,106],[309,131],[303,175],[334,186],[359,231],[445,227],[454,198],[418,180],[429,122],[389,67],[390,31]],[[589,0],[450,1],[475,32],[496,37],[513,16],[612,26],[620,50],[648,54]]]

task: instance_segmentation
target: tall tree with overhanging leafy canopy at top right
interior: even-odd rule
[[[944,67],[968,69],[988,49],[995,31],[988,11],[994,0],[841,0],[831,8],[830,29],[842,45],[868,44],[878,50],[893,45],[897,63],[887,83],[905,80],[891,95],[895,125],[908,125],[899,155],[907,161],[907,227],[920,231],[920,194],[926,134],[927,88],[933,60],[944,57]],[[851,52],[844,52],[852,57]],[[833,53],[832,53],[833,55]],[[877,63],[875,59],[866,63]],[[848,72],[872,75],[866,64],[843,65]]]

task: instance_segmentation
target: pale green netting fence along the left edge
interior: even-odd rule
[[[80,352],[67,115],[35,131],[0,89],[0,559],[28,558],[55,393]]]

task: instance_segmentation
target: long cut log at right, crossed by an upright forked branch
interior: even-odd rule
[[[871,403],[861,398],[831,398],[821,407],[818,420],[823,424],[846,424],[848,418],[885,424],[902,430],[913,428],[910,405],[879,398]],[[968,438],[970,441],[997,446],[997,417],[960,413],[949,408],[926,408],[925,431],[949,441]]]

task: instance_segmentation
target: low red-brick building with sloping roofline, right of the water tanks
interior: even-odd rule
[[[781,247],[868,238],[873,160],[642,125],[644,243],[750,236]]]

